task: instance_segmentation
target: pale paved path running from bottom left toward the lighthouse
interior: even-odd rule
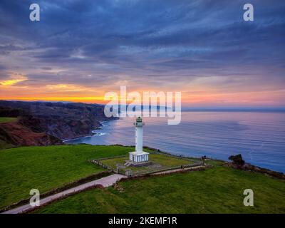
[[[41,204],[48,204],[49,202],[53,202],[56,199],[60,199],[61,197],[64,197],[64,196],[69,195],[71,193],[80,192],[80,191],[85,190],[86,188],[92,187],[94,185],[103,185],[103,187],[109,187],[122,178],[126,178],[126,176],[120,175],[120,174],[114,174],[114,175],[110,175],[108,177],[100,178],[98,180],[93,180],[93,181],[88,182],[86,184],[78,185],[78,186],[73,187],[69,190],[65,190],[63,192],[56,193],[55,195],[51,195],[49,197],[43,198],[43,199],[41,199]],[[28,212],[31,209],[33,209],[33,207],[30,204],[25,204],[21,207],[16,207],[14,209],[10,209],[9,211],[3,212],[2,214],[19,214],[19,213],[23,213],[23,212]]]

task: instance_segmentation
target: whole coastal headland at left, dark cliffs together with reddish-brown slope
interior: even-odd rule
[[[101,121],[113,119],[105,117],[104,105],[7,100],[0,100],[0,116],[18,117],[0,124],[0,140],[12,145],[58,144],[89,135]]]

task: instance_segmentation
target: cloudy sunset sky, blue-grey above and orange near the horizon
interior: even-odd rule
[[[284,0],[1,0],[0,99],[105,103],[127,86],[186,107],[285,107],[284,38]]]

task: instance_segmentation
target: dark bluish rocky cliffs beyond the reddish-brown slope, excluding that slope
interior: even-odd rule
[[[16,130],[11,128],[14,126],[16,129],[21,125],[22,131],[25,133],[28,128],[35,134],[45,133],[50,137],[66,140],[89,135],[92,130],[100,127],[101,121],[114,119],[105,117],[103,105],[0,100],[0,107],[22,110],[21,118],[16,125],[15,123],[14,125],[8,123],[2,125],[0,135],[4,134],[3,130],[14,135]],[[9,135],[11,136],[11,134]],[[27,133],[26,140],[32,137],[37,138],[39,135]],[[16,140],[15,137],[14,140]],[[52,139],[50,138],[50,140]]]

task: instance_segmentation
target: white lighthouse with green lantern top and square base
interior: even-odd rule
[[[130,152],[130,161],[133,163],[147,162],[148,152],[142,151],[142,118],[138,117],[134,123],[135,125],[135,152]]]

